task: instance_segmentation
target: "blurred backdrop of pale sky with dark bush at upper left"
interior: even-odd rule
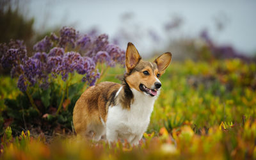
[[[256,53],[256,1],[1,1],[1,42],[32,47],[52,31],[106,33],[122,49],[136,45],[143,58],[170,51],[173,60],[251,60]],[[198,54],[200,54],[198,56]]]

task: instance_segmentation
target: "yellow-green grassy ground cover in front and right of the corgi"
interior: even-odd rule
[[[124,68],[110,68],[101,81],[120,82]],[[1,159],[256,159],[256,65],[216,60],[171,63],[161,77],[148,131],[140,145],[109,146],[74,135],[51,142],[29,131],[1,138]],[[1,100],[15,98],[10,77],[1,84]],[[1,101],[1,108],[2,108]],[[4,107],[3,107],[4,108]],[[11,133],[10,133],[11,132]]]

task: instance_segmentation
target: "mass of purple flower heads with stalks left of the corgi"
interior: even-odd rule
[[[74,73],[83,75],[86,85],[94,85],[108,67],[116,63],[124,65],[125,52],[118,46],[109,44],[108,35],[82,35],[74,28],[63,27],[60,36],[52,33],[45,36],[33,47],[33,56],[27,56],[26,46],[20,40],[0,44],[1,65],[11,68],[12,77],[19,77],[17,86],[27,93],[31,105],[36,108],[30,89],[39,86],[47,89],[49,84],[61,77],[63,94],[56,113],[59,113],[65,95],[68,99],[68,86]],[[102,64],[107,67],[99,67]],[[100,70],[99,70],[100,68]]]

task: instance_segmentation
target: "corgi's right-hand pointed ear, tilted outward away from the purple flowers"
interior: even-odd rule
[[[156,60],[154,60],[154,63],[156,63],[158,71],[161,75],[164,74],[166,68],[170,65],[171,61],[172,53],[170,52],[165,52],[164,54],[156,58]]]

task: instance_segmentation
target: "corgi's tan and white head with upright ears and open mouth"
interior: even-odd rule
[[[127,72],[125,81],[130,88],[155,97],[159,94],[162,85],[159,81],[159,77],[164,74],[171,60],[172,54],[165,52],[156,58],[154,62],[143,61],[136,47],[129,42],[125,54],[125,67]]]

